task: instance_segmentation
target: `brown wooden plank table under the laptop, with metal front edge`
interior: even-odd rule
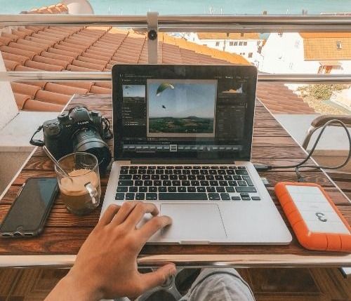
[[[67,109],[85,105],[112,118],[110,95],[75,95]],[[34,130],[34,129],[33,129]],[[111,142],[112,144],[112,142]],[[305,151],[291,138],[272,114],[256,102],[252,161],[276,165],[297,163],[305,158]],[[312,162],[311,162],[312,163]],[[267,187],[279,212],[273,187],[278,181],[296,181],[293,169],[270,170],[260,173],[270,181]],[[322,171],[303,172],[310,182],[317,182],[329,193],[336,206],[351,224],[351,203]],[[29,177],[55,176],[53,163],[37,148],[13,180],[0,201],[0,218],[8,211],[23,182]],[[101,179],[105,192],[107,177]],[[103,198],[103,195],[102,195]],[[79,217],[67,212],[60,196],[55,201],[44,233],[34,239],[0,239],[0,267],[72,266],[75,255],[100,215],[100,208],[90,215]],[[285,215],[282,216],[287,225]],[[291,227],[289,227],[291,230]],[[274,229],[272,229],[274,231]],[[293,232],[291,231],[291,234]],[[140,266],[150,267],[163,262],[176,262],[179,266],[236,267],[351,267],[351,254],[310,251],[301,247],[296,237],[289,246],[145,246],[139,257]]]

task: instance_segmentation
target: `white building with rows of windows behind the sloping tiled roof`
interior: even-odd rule
[[[192,32],[186,39],[220,51],[242,55],[257,67],[262,61],[260,50],[263,39],[256,33]]]

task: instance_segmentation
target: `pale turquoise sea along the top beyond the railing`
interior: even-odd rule
[[[0,0],[0,14],[17,14],[60,0]],[[350,13],[351,0],[90,0],[95,15]]]

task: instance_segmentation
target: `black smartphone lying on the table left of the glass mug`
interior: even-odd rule
[[[41,234],[57,194],[56,178],[29,178],[1,224],[1,235],[32,237]]]

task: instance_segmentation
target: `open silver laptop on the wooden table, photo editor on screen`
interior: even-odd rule
[[[173,224],[149,243],[291,242],[250,162],[256,67],[114,65],[112,82],[114,162],[101,214],[154,203]]]

